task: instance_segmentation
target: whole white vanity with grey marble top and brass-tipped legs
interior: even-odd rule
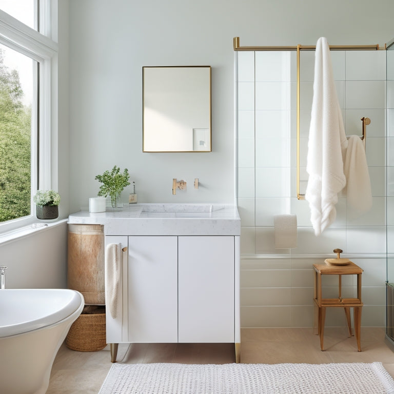
[[[240,362],[236,207],[131,204],[123,210],[76,212],[69,224],[103,225],[105,245],[122,246],[120,280],[107,287],[116,289],[116,298],[106,298],[112,362],[117,344],[133,342],[234,343]],[[114,302],[116,313],[108,307]]]

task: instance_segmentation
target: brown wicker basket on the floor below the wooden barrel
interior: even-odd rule
[[[106,345],[105,306],[85,306],[68,331],[66,346],[77,351],[97,351]]]

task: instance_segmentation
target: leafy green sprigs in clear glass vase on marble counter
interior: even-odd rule
[[[104,171],[102,175],[96,175],[94,179],[101,182],[99,193],[97,195],[106,197],[109,195],[111,197],[112,208],[116,208],[116,200],[120,198],[122,190],[130,185],[129,182],[129,171],[127,168],[120,172],[119,167],[113,166],[111,172]]]

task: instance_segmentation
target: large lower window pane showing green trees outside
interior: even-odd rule
[[[0,45],[0,222],[31,213],[34,63]]]

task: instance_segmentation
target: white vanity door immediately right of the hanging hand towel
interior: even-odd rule
[[[178,237],[129,237],[129,342],[178,342]]]

